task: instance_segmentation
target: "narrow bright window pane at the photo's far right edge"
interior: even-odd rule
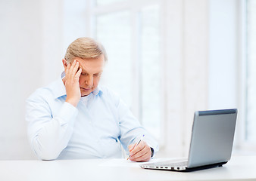
[[[256,1],[248,0],[246,139],[256,140]]]

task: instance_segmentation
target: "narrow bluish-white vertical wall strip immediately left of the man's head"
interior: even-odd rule
[[[63,71],[63,0],[40,0],[42,85],[55,81]],[[32,7],[30,7],[32,8]]]

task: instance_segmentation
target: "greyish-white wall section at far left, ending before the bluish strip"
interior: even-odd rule
[[[24,105],[42,77],[39,8],[33,0],[0,1],[0,159],[32,158]]]

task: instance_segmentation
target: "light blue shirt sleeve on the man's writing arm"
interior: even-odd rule
[[[121,99],[118,101],[117,110],[120,125],[120,143],[126,150],[126,153],[128,154],[128,146],[130,144],[137,143],[144,134],[145,136],[143,137],[143,140],[148,144],[148,146],[154,149],[155,155],[155,153],[158,152],[157,141],[151,136],[150,133],[148,133],[147,130],[145,130],[144,127],[142,127],[142,125],[130,111],[129,107],[126,106]]]

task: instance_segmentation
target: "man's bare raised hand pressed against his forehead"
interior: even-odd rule
[[[77,103],[79,102],[81,98],[81,91],[80,91],[80,84],[79,84],[79,78],[82,72],[82,69],[80,68],[80,63],[76,60],[73,60],[73,63],[69,63],[67,65],[67,68],[65,69],[65,87],[66,87],[66,93],[67,93],[67,99],[66,102],[72,104],[76,107]],[[78,70],[78,71],[77,71]]]

